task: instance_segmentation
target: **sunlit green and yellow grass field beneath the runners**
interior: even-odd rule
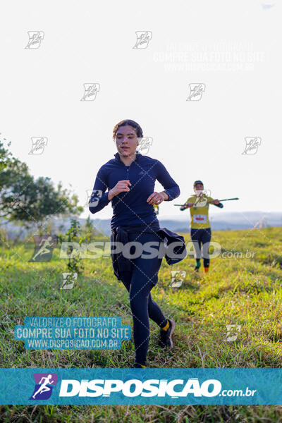
[[[228,257],[211,259],[205,276],[202,267],[193,274],[192,255],[173,267],[163,260],[152,298],[176,320],[175,346],[170,353],[156,346],[152,322],[147,366],[282,367],[282,228],[214,232],[212,240]],[[60,290],[68,270],[59,248],[50,262],[30,263],[33,247],[1,245],[1,367],[130,367],[133,340],[113,351],[25,350],[14,340],[26,316],[121,316],[132,325],[128,293],[109,258],[85,259],[74,288]],[[186,271],[180,288],[169,287],[171,270]],[[237,327],[235,341],[226,341],[229,324]],[[282,406],[2,405],[0,422],[282,422]]]

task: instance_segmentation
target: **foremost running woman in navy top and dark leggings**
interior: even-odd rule
[[[180,189],[161,161],[136,151],[143,137],[138,123],[130,119],[117,123],[113,137],[118,152],[114,159],[99,168],[90,198],[90,212],[97,213],[111,202],[111,245],[116,240],[123,240],[123,245],[132,241],[142,245],[152,241],[160,243],[154,205],[175,199]],[[155,180],[164,187],[163,191],[154,190]],[[111,255],[114,274],[121,279],[130,298],[135,344],[133,367],[146,367],[149,318],[159,325],[159,345],[163,348],[173,348],[171,335],[176,327],[175,321],[166,318],[157,302],[152,300],[150,292],[158,281],[162,258],[148,258],[147,254],[144,249],[142,255],[128,259],[126,264],[118,261],[118,274],[114,267],[117,258],[113,259],[118,256]]]

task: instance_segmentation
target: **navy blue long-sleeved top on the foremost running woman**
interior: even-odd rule
[[[143,156],[139,152],[136,152],[136,158],[130,166],[125,166],[118,153],[114,154],[114,157],[99,168],[90,198],[90,203],[93,204],[89,207],[90,212],[99,212],[111,201],[114,212],[111,228],[158,221],[154,207],[147,203],[147,198],[154,192],[157,179],[168,195],[168,200],[165,201],[174,200],[180,195],[175,180],[171,178],[161,161]],[[128,185],[130,191],[120,192],[109,200],[109,190],[114,188],[118,180],[124,179],[130,180],[131,186]]]

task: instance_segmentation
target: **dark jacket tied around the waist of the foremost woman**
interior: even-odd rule
[[[178,235],[178,233],[169,231],[167,228],[159,228],[156,231],[154,231],[151,228],[140,228],[140,226],[136,227],[130,227],[125,228],[123,226],[118,226],[117,228],[112,228],[111,230],[111,242],[114,241],[114,243],[122,243],[125,245],[128,243],[128,232],[134,232],[134,233],[155,233],[159,236],[161,239],[160,243],[164,244],[164,255],[166,262],[170,265],[176,264],[180,262],[181,260],[185,259],[187,256],[187,250],[185,246],[185,240],[182,235]],[[172,251],[173,251],[173,257],[170,257],[168,255],[168,248],[170,247],[171,243],[177,243]],[[115,250],[115,249],[114,249]],[[117,252],[115,253],[113,249],[111,248],[111,261],[114,268],[114,274],[118,278],[118,280],[121,280],[121,272],[122,271],[132,271],[133,264],[131,259],[128,259],[123,256],[123,252]]]

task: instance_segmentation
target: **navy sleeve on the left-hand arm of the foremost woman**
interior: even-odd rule
[[[106,172],[103,169],[103,166],[99,168],[97,173],[94,187],[92,190],[92,195],[89,200],[89,209],[91,213],[97,213],[100,210],[104,209],[105,206],[109,204],[111,200],[108,198],[109,191],[106,191],[108,188],[106,180]]]

